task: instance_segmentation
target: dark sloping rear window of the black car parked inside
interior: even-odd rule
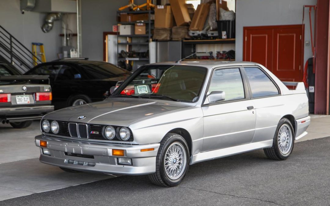
[[[131,74],[127,70],[124,70],[116,65],[109,64],[106,62],[93,62],[93,63],[85,63],[79,64],[82,68],[86,70],[86,73],[92,79],[105,79],[105,78],[113,78],[121,75],[129,75]]]

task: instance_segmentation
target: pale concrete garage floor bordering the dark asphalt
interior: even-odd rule
[[[330,136],[330,116],[312,115],[309,134],[298,141]],[[112,178],[92,173],[66,173],[42,164],[34,136],[40,134],[39,121],[26,129],[0,125],[0,201],[33,193]]]

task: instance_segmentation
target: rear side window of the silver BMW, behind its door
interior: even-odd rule
[[[252,91],[252,98],[279,94],[279,90],[275,84],[259,68],[246,67],[244,69],[248,75],[248,81]]]

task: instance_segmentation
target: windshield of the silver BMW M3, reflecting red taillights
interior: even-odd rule
[[[207,69],[185,65],[149,65],[135,78],[125,81],[114,95],[136,98],[196,102],[204,85]]]

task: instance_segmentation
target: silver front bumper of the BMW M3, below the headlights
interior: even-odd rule
[[[40,140],[47,141],[50,155],[43,154]],[[38,135],[36,146],[40,147],[40,162],[69,169],[120,175],[145,175],[156,171],[157,144],[129,145],[63,139]],[[154,148],[141,152],[141,149]],[[112,155],[113,149],[124,150],[124,157]],[[74,155],[74,156],[72,156]],[[130,158],[132,165],[119,165],[117,158]]]

